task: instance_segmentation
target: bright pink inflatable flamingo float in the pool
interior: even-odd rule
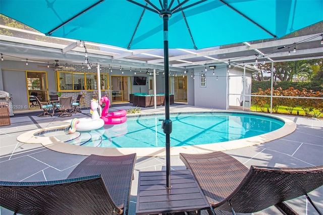
[[[102,96],[100,99],[100,105],[105,103],[104,109],[102,111],[101,119],[104,124],[116,125],[127,121],[127,111],[120,110],[116,112],[109,113],[110,100],[106,96]]]

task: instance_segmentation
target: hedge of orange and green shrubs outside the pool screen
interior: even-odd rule
[[[266,90],[258,89],[258,92],[251,93],[253,95],[271,95],[271,88]],[[323,97],[323,91],[313,91],[303,88],[301,91],[290,87],[283,90],[281,87],[273,88],[273,95],[275,96],[299,96],[299,97]],[[264,106],[271,102],[270,97],[252,96],[251,104],[256,105],[264,112]],[[296,105],[302,106],[306,116],[310,116],[309,112],[317,110],[323,113],[323,99],[310,98],[280,98],[273,97],[273,112],[277,113],[280,106],[287,106],[286,110],[292,114]],[[315,114],[318,114],[314,112]]]

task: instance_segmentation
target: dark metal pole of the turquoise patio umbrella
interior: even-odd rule
[[[161,125],[166,134],[166,188],[171,189],[171,133],[172,120],[170,120],[170,92],[169,92],[169,53],[168,53],[168,20],[170,12],[165,10],[161,14],[164,21],[164,69],[165,69],[165,120]]]

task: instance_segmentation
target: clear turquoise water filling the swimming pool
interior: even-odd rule
[[[66,143],[94,147],[164,147],[164,115],[128,118],[126,123],[104,125],[93,131],[47,133]],[[246,113],[171,115],[171,146],[190,146],[253,137],[277,130],[284,122],[274,117]]]

